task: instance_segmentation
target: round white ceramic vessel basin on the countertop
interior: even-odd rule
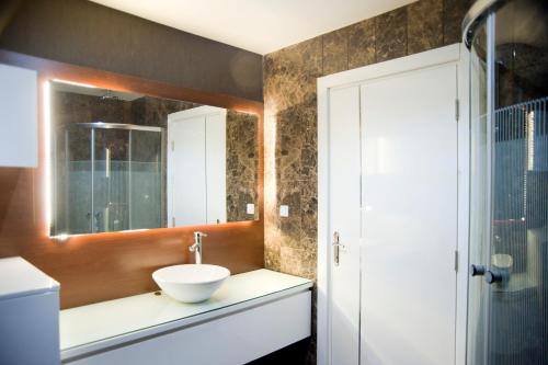
[[[228,276],[228,269],[207,264],[173,265],[152,273],[156,284],[165,294],[183,303],[209,299]]]

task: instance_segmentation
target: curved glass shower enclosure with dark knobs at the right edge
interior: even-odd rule
[[[467,363],[548,358],[548,2],[477,1]]]

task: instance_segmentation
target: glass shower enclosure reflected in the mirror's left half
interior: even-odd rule
[[[53,236],[162,227],[163,128],[73,123],[55,137]]]

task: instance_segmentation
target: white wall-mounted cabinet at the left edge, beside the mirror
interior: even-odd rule
[[[38,166],[37,72],[0,64],[0,167]]]

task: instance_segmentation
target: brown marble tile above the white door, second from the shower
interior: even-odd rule
[[[443,1],[422,0],[408,10],[408,54],[437,48],[443,44]]]

